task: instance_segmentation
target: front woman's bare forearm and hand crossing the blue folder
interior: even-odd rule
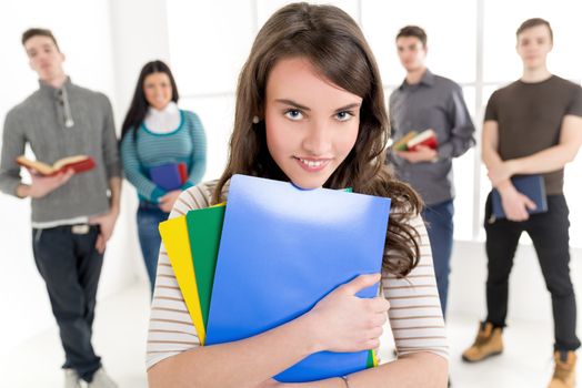
[[[150,387],[258,387],[317,351],[375,348],[389,304],[355,294],[379,280],[379,275],[361,275],[285,325],[167,358],[148,371]]]

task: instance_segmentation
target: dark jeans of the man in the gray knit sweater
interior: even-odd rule
[[[99,227],[86,227],[87,231],[77,233],[73,226],[33,228],[32,251],[59,325],[66,355],[62,367],[77,370],[83,380],[90,381],[101,367],[91,335],[103,255],[94,248]]]

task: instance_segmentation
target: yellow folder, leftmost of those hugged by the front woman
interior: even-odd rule
[[[185,216],[168,219],[160,224],[159,229],[185,306],[200,338],[200,344],[204,345],[207,330],[202,319],[202,309],[200,308],[200,297],[195,283]]]

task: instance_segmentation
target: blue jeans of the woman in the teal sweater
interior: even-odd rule
[[[158,225],[168,219],[168,215],[169,213],[162,212],[158,205],[149,202],[142,201],[138,207],[138,236],[152,293],[155,285],[155,270],[161,244]]]

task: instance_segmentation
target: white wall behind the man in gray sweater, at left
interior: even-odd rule
[[[66,71],[72,81],[111,99],[119,131],[142,64],[153,58],[168,59],[164,12],[162,0],[3,2],[0,121],[3,123],[6,113],[38,88],[20,37],[28,28],[43,27],[53,31],[67,55]],[[123,190],[122,213],[108,245],[99,299],[138,278],[146,279],[137,242],[136,193],[128,184]],[[34,266],[30,235],[29,201],[1,194],[0,355],[54,324],[44,284]]]

